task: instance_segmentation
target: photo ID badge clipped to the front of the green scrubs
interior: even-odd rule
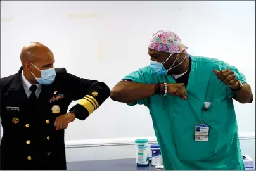
[[[195,141],[208,141],[209,129],[206,124],[196,124]]]

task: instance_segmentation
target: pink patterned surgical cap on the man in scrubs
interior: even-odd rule
[[[188,58],[188,53],[186,52],[188,47],[181,43],[181,39],[174,32],[166,30],[158,31],[151,37],[148,48],[168,53],[183,52]]]

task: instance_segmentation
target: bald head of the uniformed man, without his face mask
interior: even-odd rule
[[[51,50],[39,42],[30,42],[24,46],[20,53],[20,61],[26,79],[33,84],[37,84],[35,77],[41,77],[41,70],[53,68],[55,62]]]

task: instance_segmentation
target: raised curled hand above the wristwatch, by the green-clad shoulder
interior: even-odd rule
[[[218,79],[221,80],[221,82],[228,85],[231,89],[239,88],[238,80],[236,79],[236,75],[234,75],[233,71],[229,69],[221,70],[220,72],[218,70],[214,70],[214,73],[218,76]]]

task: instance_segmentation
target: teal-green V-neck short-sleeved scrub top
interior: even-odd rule
[[[188,100],[155,94],[127,105],[143,104],[150,110],[165,170],[244,170],[233,93],[213,70],[229,68],[242,83],[245,76],[223,61],[189,57],[192,61],[186,87]],[[150,66],[124,79],[146,84],[176,83],[170,75],[155,75]],[[202,110],[204,102],[212,103],[207,111]],[[210,126],[208,141],[195,141],[195,125],[202,124],[203,118]]]

